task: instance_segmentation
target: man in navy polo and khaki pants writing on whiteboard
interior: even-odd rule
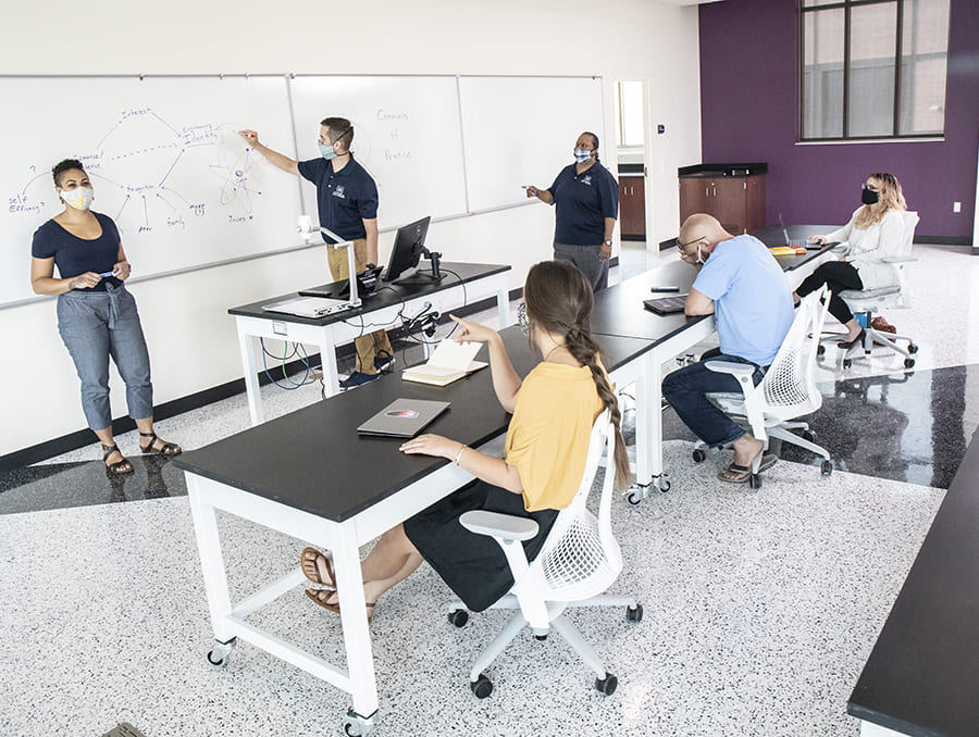
[[[357,272],[377,262],[377,185],[367,170],[354,160],[350,143],[354,125],[345,117],[326,117],[320,123],[318,159],[296,161],[259,142],[255,130],[239,132],[256,151],[284,172],[296,174],[317,186],[320,225],[345,240],[354,241]],[[326,260],[334,282],[349,278],[347,253],[326,241]],[[374,330],[354,341],[357,365],[340,386],[351,389],[372,382],[394,361],[394,351],[384,330]]]

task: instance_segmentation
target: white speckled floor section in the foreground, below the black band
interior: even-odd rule
[[[856,735],[850,689],[941,501],[939,490],[780,463],[757,492],[667,444],[676,492],[620,502],[625,572],[645,605],[572,615],[620,679],[604,698],[554,637],[520,637],[478,701],[471,659],[505,620],[450,626],[424,566],[371,625],[382,714],[374,735]],[[786,503],[788,502],[788,503]],[[301,544],[230,516],[233,596],[296,564]],[[211,634],[187,499],[0,517],[0,734],[339,734],[345,695],[248,646],[208,665]],[[255,584],[251,584],[255,585]],[[337,652],[338,621],[296,589],[253,615]]]

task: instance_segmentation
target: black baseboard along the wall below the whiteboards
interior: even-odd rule
[[[519,297],[522,291],[522,289],[511,289],[509,291],[509,298],[513,299],[516,297]],[[488,297],[478,302],[461,307],[457,310],[453,310],[453,314],[459,317],[466,317],[467,315],[482,312],[483,310],[488,310],[495,307],[496,298]],[[448,322],[449,316],[447,314],[443,314],[438,320],[439,324],[445,324]],[[396,334],[399,329],[404,328],[395,328],[395,330],[393,332]],[[337,348],[336,353],[337,358],[340,359],[352,357],[354,343],[340,346],[339,348]],[[307,360],[309,361],[310,365],[320,365],[319,353],[313,353]],[[306,362],[292,361],[286,364],[285,373],[283,373],[282,365],[280,364],[270,367],[269,374],[271,374],[272,378],[274,378],[275,380],[282,380],[285,378],[285,376],[295,376],[296,374],[302,373],[305,371]],[[265,386],[267,384],[271,383],[271,379],[265,375],[264,371],[259,372],[258,378],[260,386]],[[199,410],[202,407],[213,404],[214,402],[227,399],[228,397],[244,394],[244,391],[245,378],[237,378],[232,382],[211,387],[209,389],[196,391],[191,395],[187,395],[186,397],[179,397],[169,402],[157,404],[153,408],[153,419],[159,421],[174,417],[178,414],[183,414],[184,412]],[[112,421],[112,432],[114,435],[122,435],[123,433],[128,433],[135,428],[136,423],[133,422],[133,420],[128,416],[116,417]],[[46,461],[49,458],[54,458],[55,455],[69,453],[73,450],[78,450],[79,448],[89,446],[96,442],[96,440],[97,438],[95,433],[92,433],[88,428],[75,430],[74,433],[69,433],[67,435],[62,435],[61,437],[52,438],[51,440],[45,440],[44,442],[39,442],[36,446],[30,446],[29,448],[24,448],[23,450],[17,450],[12,453],[8,453],[7,455],[0,455],[0,472],[21,469],[33,463],[40,463],[41,461]]]

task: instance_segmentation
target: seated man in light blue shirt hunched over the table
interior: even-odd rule
[[[707,399],[710,392],[740,392],[730,374],[710,371],[710,359],[755,367],[755,385],[779,352],[795,317],[792,292],[782,268],[754,236],[732,236],[710,215],[691,215],[680,228],[680,258],[703,264],[686,298],[689,315],[717,316],[720,348],[707,351],[698,363],[669,374],[662,396],[694,435],[709,446],[731,446],[734,460],[720,472],[721,480],[741,483],[751,476],[753,461],[765,444],[742,429]],[[763,467],[774,457],[763,459]]]

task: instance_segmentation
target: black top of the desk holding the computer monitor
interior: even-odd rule
[[[438,283],[419,284],[419,285],[397,285],[382,284],[377,290],[371,295],[361,296],[362,304],[355,310],[346,310],[340,313],[326,315],[324,317],[299,317],[298,315],[289,315],[281,312],[265,312],[262,310],[263,304],[280,302],[282,300],[298,297],[298,292],[290,291],[278,297],[271,297],[250,304],[231,308],[227,312],[232,315],[244,315],[247,317],[262,317],[264,320],[277,320],[286,323],[302,323],[305,325],[327,325],[330,323],[338,323],[350,317],[398,304],[408,299],[421,297],[424,295],[434,295],[444,289],[457,286],[460,282],[467,284],[474,282],[484,276],[492,276],[510,271],[510,266],[503,264],[485,264],[485,263],[457,263],[454,261],[442,262],[442,271],[445,273],[443,279]],[[338,293],[346,282],[334,282],[332,284],[322,284],[310,286],[309,289],[333,291]]]

